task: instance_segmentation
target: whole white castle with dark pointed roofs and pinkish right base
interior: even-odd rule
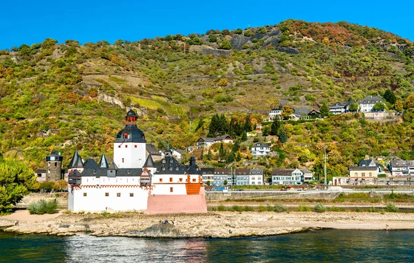
[[[161,162],[146,156],[145,135],[137,115],[129,110],[126,126],[114,142],[114,158],[105,155],[83,163],[75,154],[68,167],[69,211],[144,211],[156,213],[206,213],[202,176],[195,157],[181,166],[169,148]]]

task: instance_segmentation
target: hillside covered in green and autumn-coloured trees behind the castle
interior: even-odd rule
[[[319,143],[330,142],[342,173],[364,154],[412,156],[413,56],[411,41],[346,22],[288,20],[113,44],[46,39],[0,51],[0,150],[32,168],[52,148],[64,164],[75,148],[83,157],[111,156],[130,104],[148,142],[184,148],[208,133],[214,113],[255,124],[279,99],[311,106],[391,90],[387,110],[402,104],[400,123],[348,116],[284,125],[288,141],[278,149],[286,158],[266,164],[313,166]]]

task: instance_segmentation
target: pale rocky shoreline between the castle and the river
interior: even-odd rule
[[[168,220],[167,224],[163,222]],[[61,214],[53,219],[19,222],[3,220],[3,231],[18,234],[172,238],[225,238],[282,235],[325,228],[414,230],[414,213],[356,212],[208,212],[193,215]]]

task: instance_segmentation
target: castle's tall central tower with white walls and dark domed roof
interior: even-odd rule
[[[118,168],[142,168],[146,161],[146,140],[137,127],[137,115],[129,110],[125,128],[117,134],[114,142],[114,162]]]

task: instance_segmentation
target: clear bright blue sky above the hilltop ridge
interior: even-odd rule
[[[404,3],[406,2],[406,3]],[[414,1],[3,1],[0,49],[51,37],[80,43],[274,25],[348,21],[414,41]]]

